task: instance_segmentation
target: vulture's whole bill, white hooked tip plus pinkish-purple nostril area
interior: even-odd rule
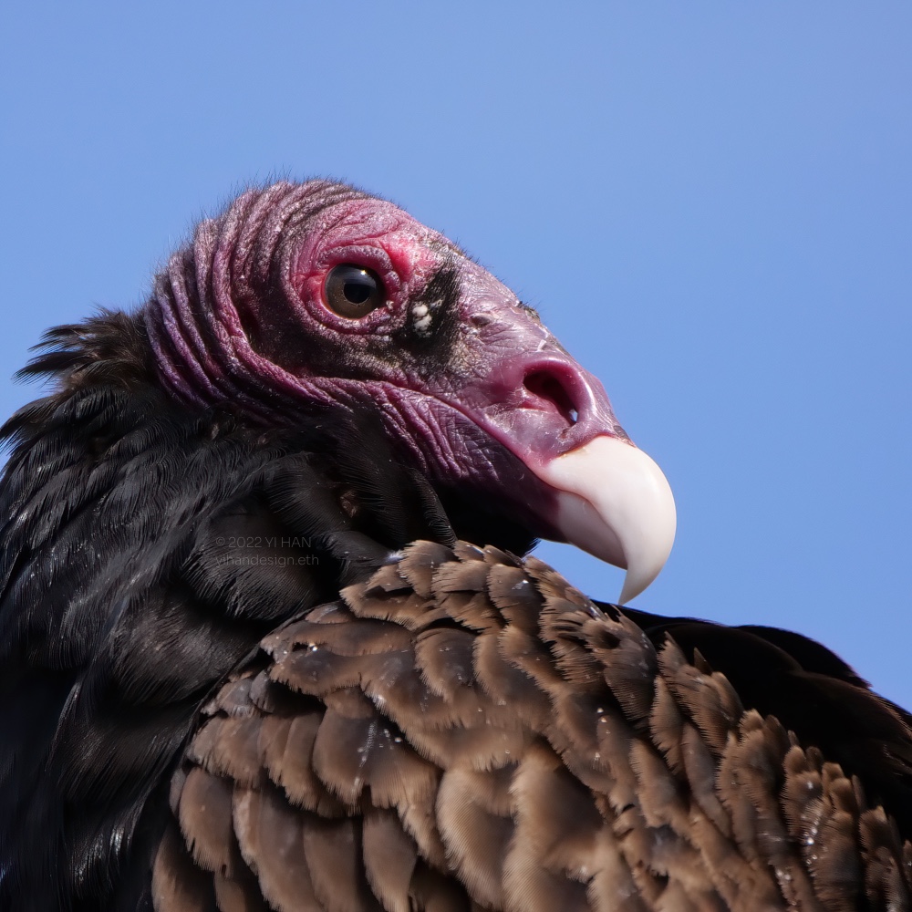
[[[529,336],[537,327],[523,326]],[[544,330],[537,329],[544,334]],[[519,336],[526,351],[536,341]],[[630,442],[602,384],[552,337],[532,354],[497,358],[462,409],[523,461],[544,485],[514,492],[566,541],[627,570],[619,601],[639,595],[668,560],[675,538],[671,489],[658,465]]]

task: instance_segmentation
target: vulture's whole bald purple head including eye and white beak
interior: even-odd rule
[[[171,258],[142,319],[178,399],[270,427],[377,416],[448,513],[512,515],[626,568],[622,601],[668,557],[668,482],[601,383],[390,202],[326,181],[246,192]]]

